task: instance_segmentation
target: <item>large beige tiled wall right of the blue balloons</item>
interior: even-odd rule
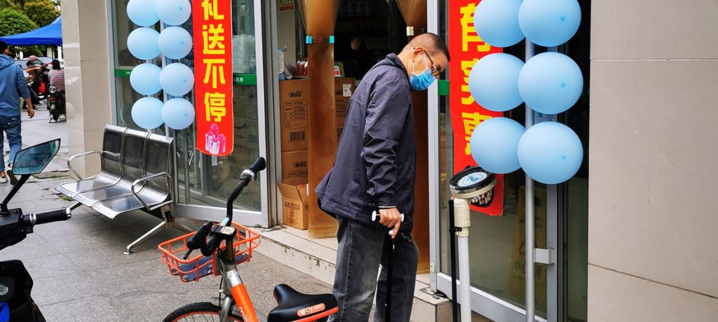
[[[589,321],[718,321],[717,16],[592,1]]]

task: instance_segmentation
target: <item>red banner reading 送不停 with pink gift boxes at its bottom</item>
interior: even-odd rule
[[[228,156],[234,146],[232,1],[193,0],[197,149]]]

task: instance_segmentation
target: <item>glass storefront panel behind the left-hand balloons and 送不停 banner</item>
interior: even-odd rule
[[[190,126],[182,131],[160,127],[153,132],[174,137],[175,155],[175,212],[182,217],[218,220],[224,217],[226,198],[239,181],[241,172],[258,156],[266,158],[266,117],[264,104],[264,68],[263,60],[257,59],[263,54],[261,21],[263,12],[261,0],[232,1],[232,56],[233,56],[233,117],[234,148],[230,156],[217,157],[200,153],[195,148],[196,128]],[[131,119],[133,103],[142,97],[134,92],[129,84],[131,70],[143,61],[136,60],[127,50],[127,35],[137,28],[126,14],[127,0],[113,0],[113,39],[115,44],[115,123],[120,126],[139,129]],[[191,30],[192,19],[181,27]],[[162,29],[156,24],[158,31]],[[256,32],[260,30],[260,32]],[[179,62],[192,67],[193,54]],[[160,57],[151,60],[158,66],[177,60]],[[258,63],[259,62],[259,63]],[[259,72],[258,72],[259,70]],[[172,96],[159,93],[159,98]],[[185,97],[194,102],[194,93]],[[233,207],[234,220],[248,226],[269,226],[268,189],[266,171],[260,179],[248,186],[236,199]],[[263,211],[264,210],[264,211]]]

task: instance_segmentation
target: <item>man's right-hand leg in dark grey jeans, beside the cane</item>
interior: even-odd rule
[[[416,286],[416,267],[419,265],[419,248],[414,244],[411,235],[398,234],[394,239],[392,257],[391,286],[391,322],[409,322],[411,308],[414,305],[414,287]],[[386,304],[386,265],[388,254],[381,257],[381,274],[376,287],[375,322],[383,322]]]

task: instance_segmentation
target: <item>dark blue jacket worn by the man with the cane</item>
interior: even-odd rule
[[[414,114],[401,60],[388,55],[359,83],[339,142],[334,168],[315,192],[322,209],[370,223],[380,206],[405,214],[401,232],[414,226]]]

